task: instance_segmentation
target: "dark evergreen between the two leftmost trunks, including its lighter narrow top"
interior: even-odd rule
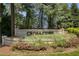
[[[7,12],[6,6],[2,4],[2,21],[1,21],[1,29],[2,35],[11,36],[11,17]]]

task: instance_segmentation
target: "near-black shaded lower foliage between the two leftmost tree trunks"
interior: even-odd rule
[[[2,34],[11,36],[11,17],[8,15],[4,15],[2,17]]]

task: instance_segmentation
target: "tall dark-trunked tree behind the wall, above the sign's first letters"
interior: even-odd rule
[[[27,29],[31,29],[33,25],[33,5],[32,4],[23,4],[23,9],[26,11],[26,20],[25,27]]]

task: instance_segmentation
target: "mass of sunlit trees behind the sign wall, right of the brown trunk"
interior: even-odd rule
[[[44,21],[48,23],[48,28],[68,28],[74,27],[78,23],[69,22],[69,20],[79,19],[77,4],[71,4],[71,8],[68,8],[68,4],[15,4],[16,5],[16,24],[20,28],[43,28]],[[19,12],[26,12],[26,16],[20,15]],[[38,14],[37,14],[38,13]],[[44,19],[47,17],[47,20]],[[21,20],[20,20],[21,19]],[[66,22],[63,22],[65,21]],[[78,27],[76,26],[76,27]]]

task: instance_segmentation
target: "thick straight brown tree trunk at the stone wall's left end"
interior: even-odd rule
[[[11,3],[11,36],[15,36],[15,10],[14,10],[14,4]]]

